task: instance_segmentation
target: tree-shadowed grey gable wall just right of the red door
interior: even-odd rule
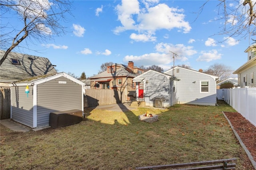
[[[155,106],[154,97],[163,97],[166,99],[164,107],[170,106],[170,80],[164,75],[155,72],[145,74],[144,79],[144,94],[145,103],[147,106]],[[148,84],[146,81],[148,80]]]

